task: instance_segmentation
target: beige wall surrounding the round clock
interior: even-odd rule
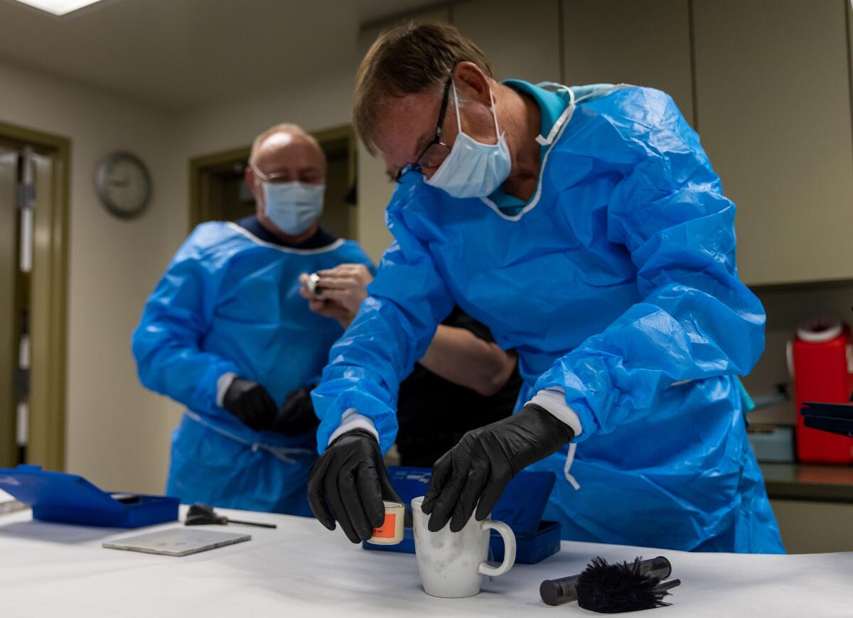
[[[67,470],[105,488],[162,490],[169,425],[165,400],[142,390],[131,330],[167,259],[169,123],[132,101],[0,64],[0,120],[71,139]],[[154,199],[120,221],[96,199],[96,162],[116,149],[148,162]],[[183,210],[183,205],[178,206]]]

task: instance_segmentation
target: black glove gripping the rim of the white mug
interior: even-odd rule
[[[479,521],[489,517],[513,476],[556,453],[574,436],[571,427],[535,404],[468,431],[432,466],[432,481],[421,506],[430,516],[427,527],[438,532],[450,520],[450,531],[459,532],[475,506]]]

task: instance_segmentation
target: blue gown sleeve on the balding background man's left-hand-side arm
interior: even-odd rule
[[[195,242],[196,235],[177,251],[148,297],[132,349],[146,388],[207,413],[217,407],[218,378],[238,369],[200,349],[227,265],[225,257]]]

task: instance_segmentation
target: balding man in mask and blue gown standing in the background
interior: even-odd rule
[[[309,391],[343,328],[299,297],[299,274],[365,264],[319,227],[326,160],[293,124],[252,144],[258,211],[194,229],[133,335],[142,384],[187,407],[172,438],[167,493],[185,503],[310,516],[316,459]]]

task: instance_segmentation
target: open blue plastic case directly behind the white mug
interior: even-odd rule
[[[432,471],[392,465],[388,475],[403,504],[410,508],[413,499],[427,493]],[[560,523],[542,521],[555,481],[553,472],[521,472],[508,482],[491,511],[492,519],[513,528],[516,563],[535,564],[560,551]],[[405,528],[403,541],[397,545],[374,545],[365,541],[362,546],[374,552],[415,553],[415,535],[412,528]],[[489,549],[491,559],[503,560],[503,540],[495,531],[491,533]]]

